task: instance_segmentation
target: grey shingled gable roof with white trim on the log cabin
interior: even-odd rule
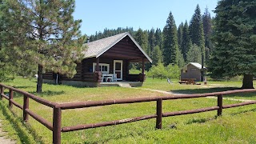
[[[108,38],[102,38],[94,42],[86,43],[86,46],[88,47],[86,51],[84,51],[85,58],[98,58],[102,54],[106,52],[106,50],[110,50],[112,46],[117,44],[122,40],[122,38],[125,38],[126,36],[130,37],[130,39],[134,42],[134,44],[138,47],[138,49],[144,54],[144,56],[152,62],[151,58],[145,53],[144,50],[142,50],[142,47],[138,45],[138,43],[134,40],[134,38],[128,33],[122,33],[117,34]]]

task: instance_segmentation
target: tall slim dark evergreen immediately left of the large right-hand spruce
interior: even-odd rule
[[[202,15],[202,24],[203,24],[203,32],[205,36],[205,47],[206,47],[206,62],[209,61],[210,52],[213,48],[212,43],[210,41],[210,34],[212,34],[212,22],[211,22],[210,12],[206,7],[205,13]]]

